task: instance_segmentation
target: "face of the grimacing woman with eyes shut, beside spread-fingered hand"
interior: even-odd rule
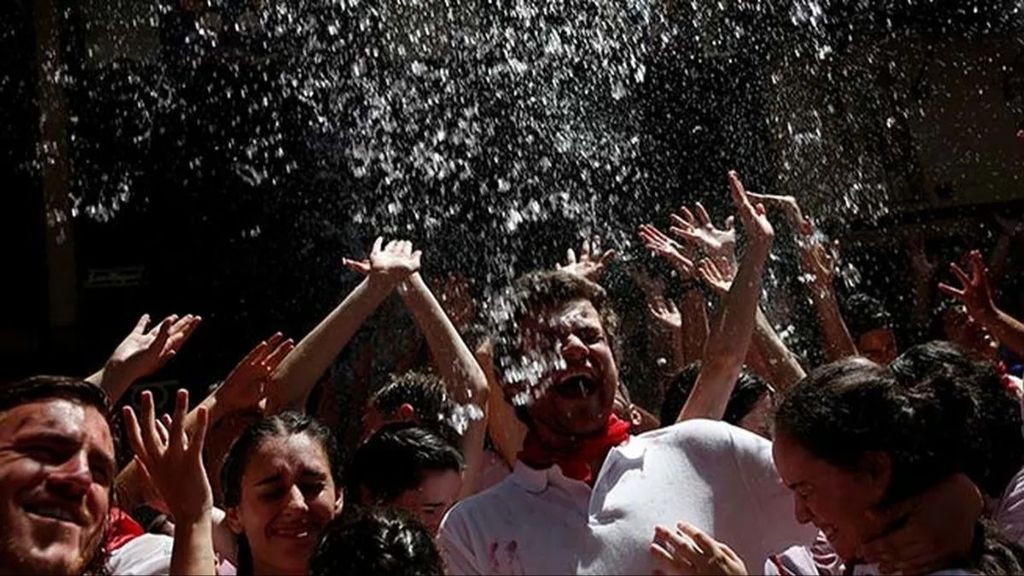
[[[321,531],[341,505],[317,441],[305,434],[272,438],[249,458],[228,522],[249,541],[257,574],[305,574]]]

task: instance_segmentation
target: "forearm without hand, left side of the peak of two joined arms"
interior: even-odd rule
[[[302,410],[316,381],[394,285],[366,278],[302,341],[270,378],[268,400],[273,412]]]

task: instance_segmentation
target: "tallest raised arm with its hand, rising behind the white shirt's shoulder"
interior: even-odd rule
[[[678,421],[690,418],[720,420],[725,414],[732,388],[746,358],[754,333],[758,300],[761,297],[761,277],[771,251],[774,231],[763,204],[754,206],[735,172],[729,172],[732,200],[739,211],[746,232],[746,252],[739,263],[736,278],[724,298],[721,325],[712,332],[705,349],[700,373],[693,392],[686,400]]]

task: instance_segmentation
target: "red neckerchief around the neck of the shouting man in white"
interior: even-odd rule
[[[626,442],[630,437],[630,423],[612,414],[604,426],[604,434],[588,438],[572,448],[571,452],[553,450],[541,442],[540,437],[529,430],[522,442],[519,459],[531,468],[546,468],[558,464],[566,478],[592,484],[594,470],[591,464],[603,458],[608,451]]]

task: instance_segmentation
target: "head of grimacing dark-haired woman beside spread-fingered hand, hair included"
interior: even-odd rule
[[[298,412],[250,425],[221,469],[239,574],[306,574],[324,527],[341,511],[331,431]]]

